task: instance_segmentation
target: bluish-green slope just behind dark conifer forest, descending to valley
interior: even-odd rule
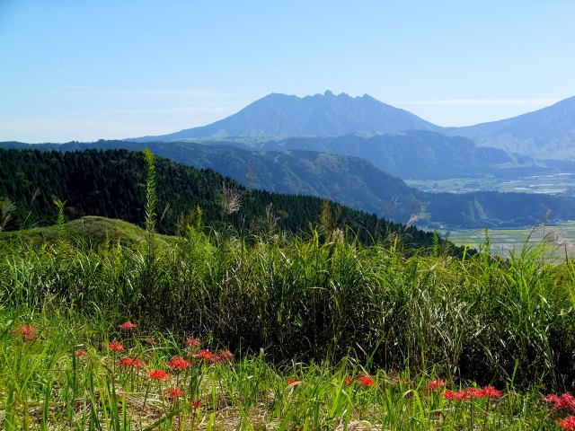
[[[13,143],[0,144],[19,147]],[[124,148],[155,154],[195,168],[210,168],[252,189],[293,195],[329,197],[348,207],[385,215],[389,220],[406,223],[420,192],[403,180],[380,171],[372,163],[357,157],[310,151],[261,152],[222,145],[195,143],[136,143],[100,141],[92,144],[33,145],[42,150],[75,151]],[[19,148],[30,148],[20,146]],[[247,176],[250,178],[248,179]]]

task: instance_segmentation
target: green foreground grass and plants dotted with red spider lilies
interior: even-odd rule
[[[546,430],[575,413],[570,259],[364,243],[328,201],[307,233],[275,216],[248,233],[227,188],[217,225],[160,237],[163,162],[139,155],[146,231],[60,212],[3,233],[4,429]]]

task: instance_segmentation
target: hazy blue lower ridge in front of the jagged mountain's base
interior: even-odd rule
[[[379,169],[408,179],[446,179],[498,172],[502,168],[533,166],[533,161],[495,149],[478,147],[464,137],[411,130],[370,137],[291,137],[263,145],[265,149],[306,149],[353,155]]]

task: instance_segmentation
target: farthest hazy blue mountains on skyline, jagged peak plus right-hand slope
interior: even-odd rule
[[[331,91],[305,97],[272,92],[242,110],[197,128],[128,138],[136,142],[230,140],[258,147],[290,137],[390,135],[411,130],[463,136],[532,159],[575,160],[575,96],[541,110],[463,128],[442,128],[407,110],[378,101],[367,93],[351,97]],[[311,149],[311,148],[302,148]]]

